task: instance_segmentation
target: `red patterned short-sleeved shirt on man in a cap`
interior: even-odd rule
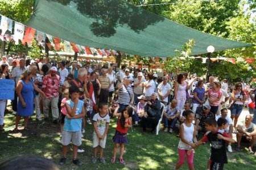
[[[47,74],[43,78],[42,88],[45,88],[46,98],[54,98],[59,96],[60,88],[60,76],[56,74],[55,77],[52,77],[51,74]]]

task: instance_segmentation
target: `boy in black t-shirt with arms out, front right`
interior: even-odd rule
[[[224,167],[224,163],[228,163],[228,157],[226,156],[226,142],[234,143],[234,139],[221,130],[218,130],[217,121],[214,118],[207,118],[205,120],[205,129],[208,131],[204,137],[196,143],[199,146],[203,142],[209,140],[210,147],[210,169],[221,170]]]

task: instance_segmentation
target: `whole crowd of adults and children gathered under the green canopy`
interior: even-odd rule
[[[228,142],[227,150],[233,152],[233,132],[237,135],[236,150],[241,151],[241,141],[246,140],[250,142],[249,152],[254,154],[256,117],[250,102],[255,101],[255,95],[254,89],[243,81],[233,85],[226,79],[220,81],[218,77],[210,76],[209,82],[205,82],[196,74],[174,75],[164,71],[159,76],[146,69],[141,71],[126,65],[117,71],[111,63],[94,66],[90,62],[50,62],[47,57],[31,60],[30,57],[14,59],[3,56],[0,65],[0,78],[13,79],[16,85],[14,100],[11,101],[16,114],[14,131],[18,130],[22,117],[24,130],[29,130],[27,122],[34,112],[38,121],[44,118],[44,121],[59,123],[63,145],[60,164],[65,164],[67,146],[72,142],[73,163],[81,165],[77,152],[82,152],[79,146],[85,124],[92,125],[92,122],[92,162],[97,162],[99,149],[99,160],[105,163],[103,150],[112,117],[118,118],[112,163],[119,147],[119,162],[125,163],[123,151],[128,128],[141,126],[142,132],[147,128],[154,132],[162,117],[164,132],[172,134],[177,126],[180,127],[177,133],[180,157],[176,169],[184,163],[185,155],[189,169],[193,169],[193,148],[207,141],[212,143],[208,168],[223,168],[226,158],[217,156],[221,153],[226,155],[225,141]],[[161,103],[165,106],[163,110]],[[6,101],[0,100],[1,131],[6,105]],[[246,105],[250,107],[250,114],[246,116],[245,123],[238,123]],[[206,134],[197,141],[199,132]],[[222,142],[216,146],[216,140]]]

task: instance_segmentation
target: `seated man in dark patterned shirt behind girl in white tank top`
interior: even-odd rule
[[[199,113],[199,118],[196,119],[196,135],[199,131],[205,131],[205,120],[207,118],[215,118],[215,115],[210,112],[210,105],[204,105],[203,111]]]

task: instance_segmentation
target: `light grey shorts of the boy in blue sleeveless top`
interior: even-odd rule
[[[80,146],[82,144],[82,132],[63,131],[60,142],[63,144],[63,146],[68,146],[70,142],[72,142],[72,144],[75,146]]]

